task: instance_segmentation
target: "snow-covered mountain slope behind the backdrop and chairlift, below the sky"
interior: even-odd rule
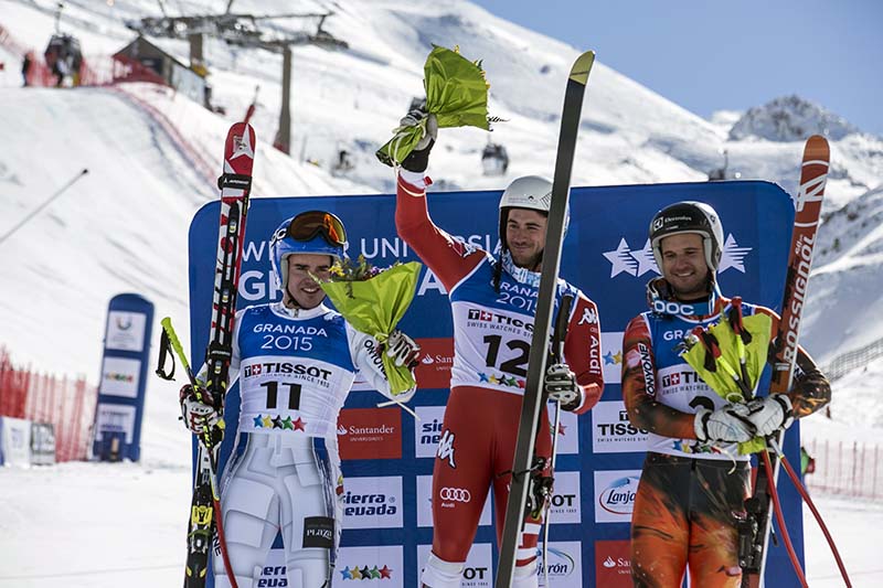
[[[217,13],[226,3],[189,0],[168,6],[174,15],[178,11]],[[432,43],[459,45],[466,56],[483,60],[491,83],[491,114],[508,120],[496,125],[490,136],[476,129],[444,131],[430,169],[436,186],[502,188],[522,174],[551,173],[563,79],[575,47],[458,0],[302,4],[298,10],[331,9],[334,14],[326,30],[350,49],[295,47],[292,157],[260,150],[256,196],[390,191],[392,174],[373,152],[390,137],[411,98],[422,94],[422,65]],[[158,7],[151,0],[71,0],[61,28],[76,34],[87,57],[97,60],[131,40],[125,20],[159,15]],[[54,9],[50,0],[0,0],[0,24],[39,52],[54,30]],[[241,0],[235,9],[273,14],[290,11],[290,2]],[[298,19],[262,22],[277,34],[315,26]],[[187,63],[184,42],[153,41]],[[0,229],[11,228],[67,179],[89,169],[57,202],[0,244],[7,277],[0,297],[4,324],[0,342],[10,345],[20,360],[40,367],[91,376],[97,366],[105,304],[113,295],[141,291],[158,303],[158,316],[183,320],[187,226],[193,212],[214,197],[205,165],[194,164],[194,159],[208,162],[211,172],[226,126],[242,116],[258,85],[254,125],[263,146],[270,142],[278,126],[281,58],[206,40],[214,101],[226,108],[225,119],[182,96],[146,86],[127,87],[126,93],[20,89],[15,87],[19,56],[0,55],[8,64],[0,76],[4,86],[0,128],[15,138],[17,146],[0,153],[0,205],[10,211],[0,220]],[[588,89],[575,184],[703,180],[721,165],[721,150],[726,149],[730,173],[774,180],[792,192],[801,143],[787,133],[759,138],[758,133],[765,133],[757,129],[766,127],[758,121],[774,120],[788,108],[800,114],[806,125],[813,117],[826,124],[834,116],[799,99],[784,100],[746,114],[731,132],[726,125],[703,120],[603,62],[599,55]],[[188,149],[148,116],[143,104],[171,122]],[[732,124],[734,118],[727,120]],[[748,125],[749,120],[754,124]],[[837,130],[829,212],[876,188],[883,171],[883,141],[852,132],[845,122]],[[511,163],[504,177],[481,174],[480,152],[488,137],[508,149]],[[334,177],[330,167],[341,149],[351,153],[355,168],[345,177]],[[66,246],[60,247],[62,243]],[[837,285],[831,288],[843,290],[849,285],[862,292],[880,291],[880,272],[870,263],[853,259],[853,253],[841,256]],[[869,269],[861,271],[862,267]],[[820,276],[832,274],[833,268],[819,271]],[[832,284],[831,279],[820,278],[820,288]],[[819,298],[813,297],[805,330],[805,341],[817,354],[828,356],[853,346],[853,339],[879,335],[868,327],[870,321],[858,316],[855,329],[862,332],[838,340],[833,331],[840,327],[827,320],[830,309],[816,302]],[[873,300],[860,296],[851,302],[869,307]],[[825,303],[833,302],[827,297]],[[77,312],[70,312],[72,307]],[[56,344],[46,344],[50,339]]]

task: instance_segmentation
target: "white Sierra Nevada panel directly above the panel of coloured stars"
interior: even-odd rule
[[[402,526],[402,478],[352,478],[343,482],[343,528]]]

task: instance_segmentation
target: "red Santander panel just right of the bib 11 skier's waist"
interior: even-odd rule
[[[341,459],[402,459],[402,410],[344,408],[338,441]]]

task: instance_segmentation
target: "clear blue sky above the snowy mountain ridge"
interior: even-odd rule
[[[883,137],[880,0],[472,1],[703,117],[797,94]]]

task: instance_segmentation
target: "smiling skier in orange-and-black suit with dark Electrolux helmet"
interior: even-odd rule
[[[731,304],[715,282],[723,228],[700,202],[657,213],[650,244],[662,277],[647,285],[651,310],[629,322],[623,341],[623,396],[635,427],[649,431],[649,448],[631,515],[631,576],[636,587],[738,587],[737,518],[751,493],[749,456],[737,443],[766,437],[794,418],[828,404],[830,385],[799,349],[788,394],[727,404],[688,363],[677,345],[696,325],[727,317]],[[742,303],[742,313],[772,310]],[[681,333],[680,335],[678,333]]]

